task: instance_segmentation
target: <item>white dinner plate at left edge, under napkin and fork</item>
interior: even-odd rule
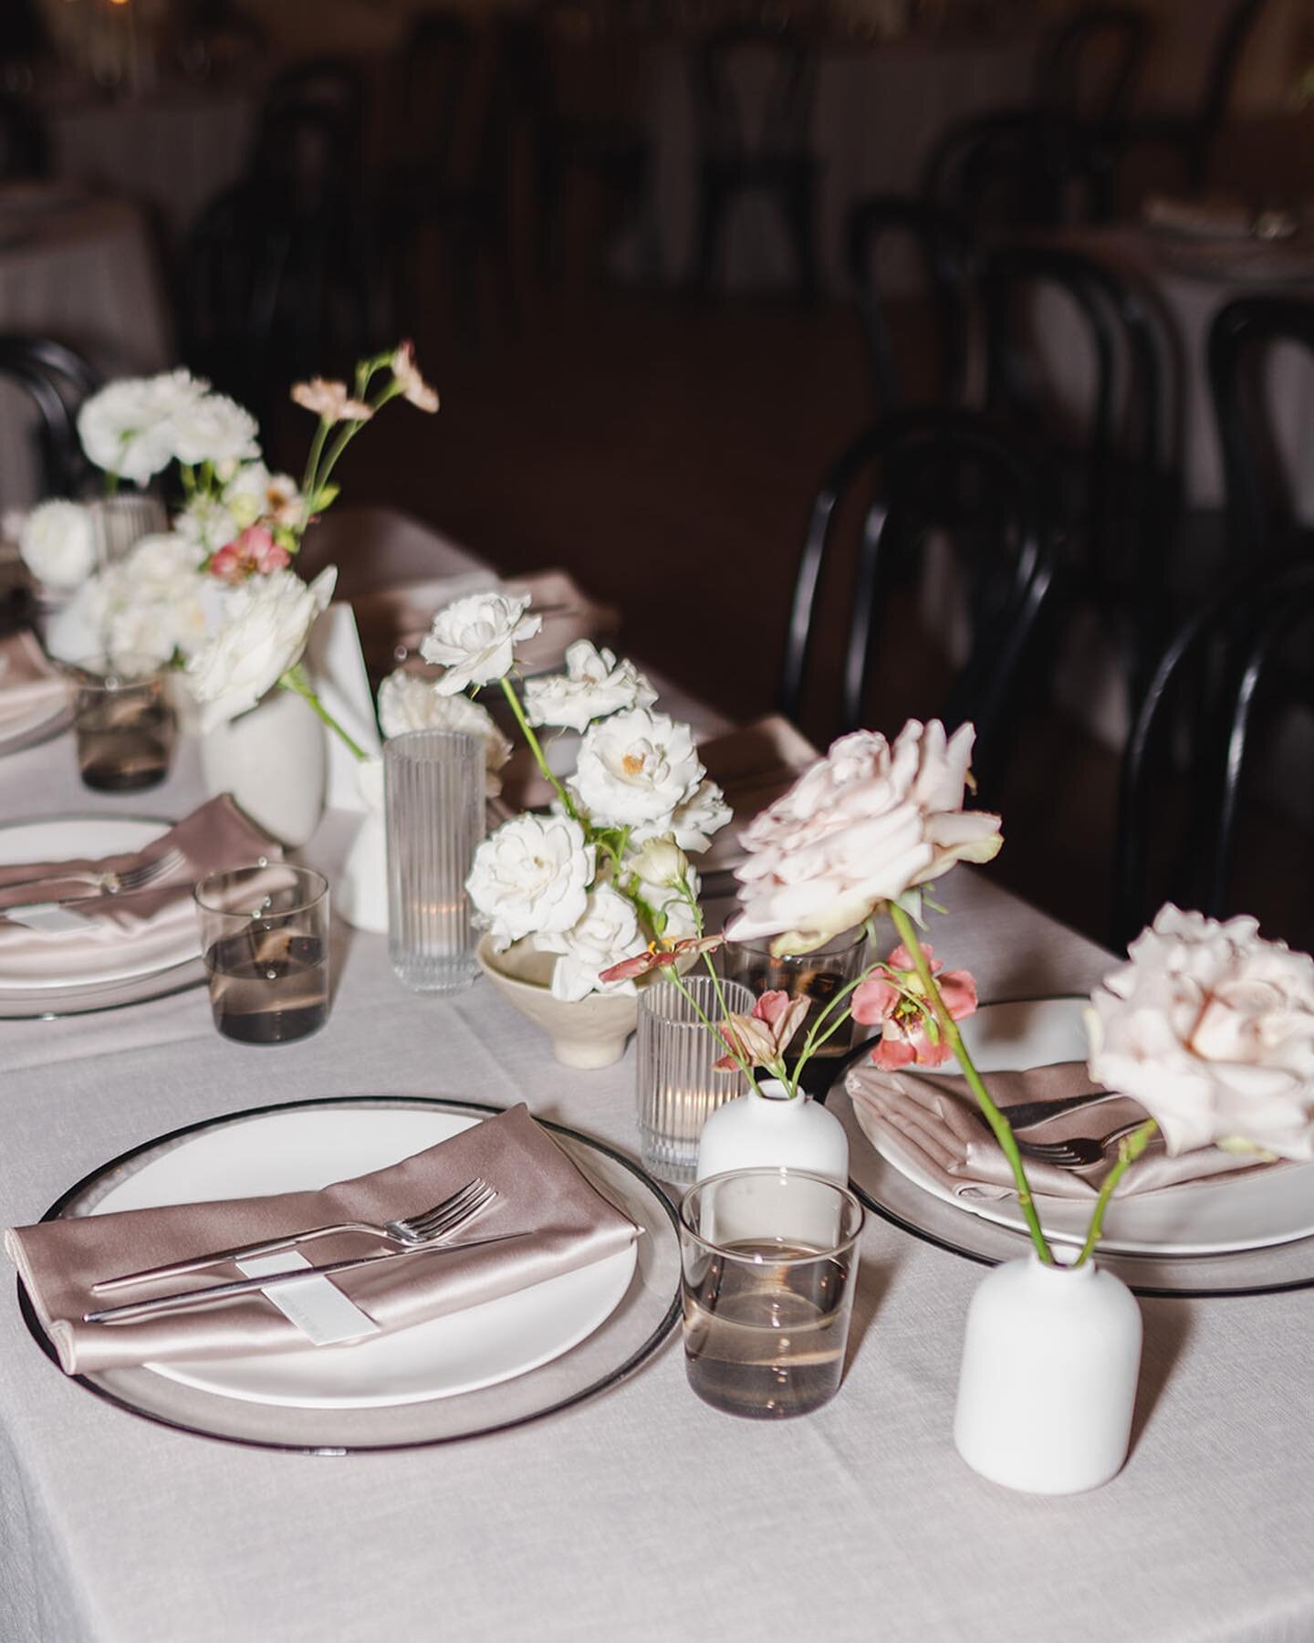
[[[25,861],[72,861],[76,858],[97,861],[102,856],[143,849],[171,826],[172,822],[161,817],[82,815],[13,822],[0,826],[0,861],[7,866],[18,866]],[[103,987],[110,983],[156,976],[199,958],[200,937],[195,925],[189,922],[181,928],[177,940],[164,950],[154,946],[149,956],[143,956],[141,953],[133,955],[130,948],[131,943],[125,943],[125,951],[107,945],[100,963],[89,960],[92,968],[85,971],[39,978],[13,968],[11,961],[7,961],[0,951],[0,994],[7,1001],[15,1001],[18,996],[39,999],[48,992],[66,997],[71,991],[84,987]]]

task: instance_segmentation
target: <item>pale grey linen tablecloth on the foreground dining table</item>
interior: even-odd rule
[[[411,536],[414,547],[414,527]],[[432,575],[486,568],[430,536]],[[664,690],[696,729],[726,721]],[[0,761],[5,820],[181,817],[168,782],[89,795],[69,734]],[[301,858],[337,872],[356,817]],[[1007,817],[1005,817],[1007,835]],[[1007,848],[1007,846],[1005,846]],[[1082,994],[1109,951],[956,868],[940,955],[984,1001]],[[724,910],[724,909],[721,909]],[[637,1158],[634,1047],[558,1065],[486,981],[452,997],[394,979],[384,937],[335,928],[314,1037],[220,1037],[204,987],[0,1022],[0,1219],[217,1114],[333,1096],[420,1096],[545,1121]],[[678,1198],[678,1188],[670,1193]],[[1018,1239],[1018,1252],[1025,1239]],[[1314,1636],[1314,1308],[1306,1290],[1142,1298],[1145,1354],[1123,1470],[1082,1495],[1015,1493],[953,1444],[964,1316],[986,1267],[867,1216],[843,1385],[788,1421],[701,1403],[678,1328],[596,1397],[509,1429],[381,1454],[292,1454],[115,1408],[0,1303],[0,1635],[5,1643],[384,1643],[762,1636],[1303,1643]]]

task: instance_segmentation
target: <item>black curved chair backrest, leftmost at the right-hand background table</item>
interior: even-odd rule
[[[908,396],[898,381],[885,302],[879,288],[879,253],[887,240],[907,240],[917,250],[938,330],[936,404],[956,404],[967,373],[967,232],[959,219],[925,200],[877,194],[849,214],[849,274],[867,338],[877,407],[902,411]]]

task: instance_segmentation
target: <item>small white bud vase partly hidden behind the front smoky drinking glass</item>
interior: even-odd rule
[[[695,1180],[726,1170],[754,1170],[783,1165],[810,1170],[844,1186],[849,1178],[849,1137],[839,1119],[810,1096],[790,1099],[775,1078],[759,1081],[762,1094],[749,1089],[718,1107],[698,1140]]]

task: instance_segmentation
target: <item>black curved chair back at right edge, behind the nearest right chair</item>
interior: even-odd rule
[[[1238,297],[1219,311],[1209,330],[1209,386],[1227,486],[1229,545],[1237,562],[1276,557],[1293,518],[1291,485],[1255,370],[1273,343],[1296,343],[1314,353],[1314,302]]]

